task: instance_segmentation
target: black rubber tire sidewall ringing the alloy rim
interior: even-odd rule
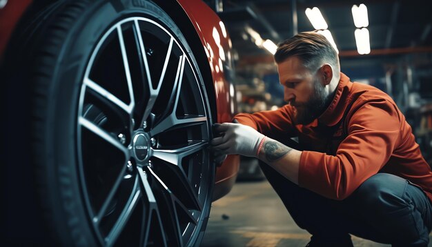
[[[126,3],[124,3],[126,2]],[[52,206],[52,228],[57,231],[61,244],[64,246],[96,246],[95,229],[86,212],[86,199],[81,192],[79,160],[77,150],[77,112],[84,73],[93,50],[101,37],[115,23],[130,16],[149,17],[164,26],[181,41],[181,46],[189,55],[195,75],[201,83],[208,117],[211,117],[208,97],[204,90],[202,76],[197,70],[197,61],[190,52],[186,39],[174,21],[155,3],[145,0],[129,1],[89,1],[88,8],[76,19],[68,31],[61,46],[58,60],[52,74],[50,97],[48,99],[48,115],[46,119],[46,172],[48,174],[48,201]],[[161,19],[161,21],[158,21]],[[211,119],[209,123],[211,123]],[[210,129],[210,126],[209,128]],[[209,169],[211,172],[213,168]],[[210,198],[213,192],[214,174],[210,175],[210,191],[203,208],[201,226],[204,232],[210,211]],[[50,179],[52,178],[52,179]],[[202,226],[204,224],[204,226]],[[197,236],[199,243],[203,233]]]

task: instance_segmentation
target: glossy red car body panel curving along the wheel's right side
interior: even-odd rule
[[[235,90],[225,77],[226,66],[230,65],[231,41],[224,23],[203,1],[177,0],[184,8],[195,30],[199,34],[208,57],[215,89],[217,122],[230,122],[235,112]],[[216,188],[213,200],[226,195],[232,188],[239,170],[239,156],[228,155],[224,164],[217,168]]]

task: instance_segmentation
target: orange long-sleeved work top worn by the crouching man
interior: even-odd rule
[[[411,126],[389,95],[341,73],[331,105],[311,124],[294,125],[293,108],[241,113],[235,119],[281,141],[298,137],[303,148],[299,185],[344,199],[366,179],[386,172],[423,188],[432,201],[432,172]]]

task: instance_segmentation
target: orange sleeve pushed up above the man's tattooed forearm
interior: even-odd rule
[[[388,100],[369,101],[351,115],[336,155],[304,151],[299,185],[331,199],[345,199],[389,161],[400,138],[400,115]]]

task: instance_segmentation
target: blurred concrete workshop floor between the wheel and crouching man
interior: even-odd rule
[[[228,195],[213,203],[201,246],[294,247],[306,246],[310,237],[294,223],[267,181],[237,182]],[[355,236],[353,244],[389,246]]]

